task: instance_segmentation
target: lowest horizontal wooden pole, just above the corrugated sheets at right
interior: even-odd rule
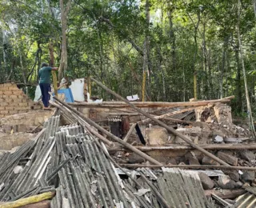
[[[256,167],[247,167],[247,166],[214,166],[214,165],[144,165],[144,164],[119,164],[119,166],[126,167],[126,168],[155,168],[159,169],[161,167],[169,167],[169,168],[183,168],[183,169],[199,169],[199,170],[207,170],[207,169],[214,169],[214,170],[253,170],[256,171]]]

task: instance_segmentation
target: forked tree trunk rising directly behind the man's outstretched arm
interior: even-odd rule
[[[70,10],[71,0],[66,3],[66,8],[64,8],[63,0],[59,0],[59,5],[61,7],[61,22],[62,22],[62,54],[61,63],[58,69],[58,82],[61,82],[63,74],[67,70],[67,46],[66,46],[66,25],[67,25],[67,15]]]

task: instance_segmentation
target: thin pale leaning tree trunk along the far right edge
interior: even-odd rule
[[[242,74],[245,82],[245,90],[246,90],[246,104],[247,104],[247,113],[249,117],[249,126],[251,130],[253,131],[254,138],[256,138],[256,133],[254,129],[254,121],[253,121],[253,116],[251,112],[251,107],[250,107],[250,98],[249,98],[249,93],[248,93],[248,86],[247,86],[247,78],[246,78],[246,67],[245,63],[243,61],[243,52],[242,52],[242,41],[240,37],[240,10],[241,10],[241,2],[238,0],[238,25],[237,25],[237,32],[238,32],[238,43],[239,43],[239,51],[240,51],[240,57],[241,57],[241,63],[242,63]]]

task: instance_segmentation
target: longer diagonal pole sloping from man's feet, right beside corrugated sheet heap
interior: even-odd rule
[[[151,158],[149,155],[143,153],[142,151],[134,148],[134,146],[131,146],[130,144],[128,144],[127,142],[124,142],[121,138],[118,138],[116,136],[114,136],[113,134],[111,134],[109,131],[105,130],[102,128],[102,126],[99,126],[97,123],[93,122],[92,120],[90,120],[90,118],[86,118],[82,113],[80,113],[78,110],[75,110],[73,107],[69,106],[68,104],[66,104],[65,102],[60,101],[58,98],[54,98],[55,100],[58,101],[58,103],[62,104],[62,106],[65,106],[68,110],[71,110],[72,112],[74,112],[74,114],[77,114],[80,118],[82,118],[85,122],[87,122],[88,124],[90,124],[90,126],[94,126],[96,129],[98,129],[99,131],[101,131],[103,134],[106,134],[108,137],[112,138],[115,142],[118,142],[120,144],[122,144],[122,146],[125,146],[128,150],[133,151],[135,154],[138,154],[139,156],[141,156],[142,158],[145,158],[146,160],[148,160],[149,162],[152,162],[156,165],[162,166],[162,163],[158,162],[157,160],[155,160],[154,158]]]

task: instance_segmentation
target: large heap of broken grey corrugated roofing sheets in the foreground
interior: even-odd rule
[[[106,146],[88,129],[76,123],[59,126],[59,120],[53,116],[36,138],[1,155],[0,201],[5,203],[0,207],[19,207],[14,205],[34,195],[50,199],[49,192],[56,195],[44,207],[214,207],[198,174],[115,168]],[[180,186],[189,191],[173,191]]]

